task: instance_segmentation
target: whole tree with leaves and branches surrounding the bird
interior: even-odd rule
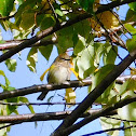
[[[126,14],[122,17],[120,12],[124,5],[127,10],[123,9]],[[16,57],[22,56],[23,50],[29,49],[29,53],[23,55],[27,56],[26,65],[30,72],[36,73],[39,70],[37,63],[43,63],[38,59],[39,54],[49,62],[53,46],[56,46],[58,54],[72,52],[71,70],[78,77],[60,85],[35,83],[16,89],[11,86],[5,69],[0,67],[2,136],[8,135],[12,125],[49,120],[63,120],[51,135],[65,136],[98,118],[103,131],[94,134],[89,133],[86,135],[107,133],[118,136],[120,130],[124,131],[124,135],[135,134],[135,0],[1,0],[0,25],[0,63],[4,62],[11,72],[16,72]],[[12,33],[12,40],[3,38],[4,30]],[[84,86],[87,86],[87,96],[77,103],[76,92]],[[46,103],[29,103],[25,97],[62,89],[68,89],[67,97],[63,96],[66,103],[52,103],[52,97]],[[28,106],[30,114],[19,114],[18,107],[23,105]],[[68,108],[36,113],[33,105],[63,105]],[[94,110],[93,105],[100,109]],[[69,110],[70,107],[73,109]]]

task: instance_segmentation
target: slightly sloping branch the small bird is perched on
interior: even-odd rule
[[[136,76],[122,76],[119,77],[115,82],[118,84],[123,84],[126,80],[133,79],[136,80]],[[49,92],[54,90],[62,90],[62,89],[68,89],[68,87],[82,87],[82,86],[89,86],[92,84],[91,79],[84,79],[82,81],[74,80],[74,81],[67,81],[64,84],[57,85],[57,84],[40,84],[40,85],[32,85],[28,87],[17,89],[14,91],[4,91],[3,93],[0,93],[0,100],[5,98],[12,98],[16,96],[24,96],[32,93],[38,92]]]

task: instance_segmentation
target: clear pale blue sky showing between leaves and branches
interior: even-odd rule
[[[120,12],[119,14],[121,16],[125,16],[125,11],[127,10],[127,6],[123,6],[121,10],[123,10],[122,12]],[[0,26],[0,29],[1,26]],[[4,31],[2,29],[2,36],[4,40],[12,40],[12,33],[10,31]],[[38,54],[38,63],[37,63],[37,73],[33,73],[31,71],[29,71],[29,69],[26,66],[26,58],[28,52],[30,49],[25,49],[24,51],[22,51],[22,55],[18,57],[18,55],[14,55],[12,58],[16,58],[17,59],[17,67],[16,67],[16,71],[15,72],[11,72],[8,70],[6,66],[4,65],[4,63],[0,64],[0,70],[4,70],[5,76],[9,78],[9,80],[11,81],[11,86],[15,86],[16,89],[21,89],[21,87],[25,87],[25,86],[31,86],[33,84],[42,84],[42,83],[46,83],[46,78],[44,78],[45,80],[43,82],[40,81],[40,76],[43,73],[43,71],[45,69],[47,69],[50,67],[50,65],[52,64],[52,62],[54,60],[54,58],[57,56],[57,51],[56,47],[54,46],[53,52],[51,54],[50,60],[46,62],[45,58],[43,58],[41,56],[41,54]],[[122,57],[125,56],[126,54],[124,54],[124,52],[122,52],[122,50],[120,51]],[[118,63],[119,60],[117,60]],[[72,76],[71,79],[76,79],[74,76]],[[0,79],[0,82],[3,82],[3,79]],[[1,91],[1,90],[0,90]],[[64,96],[65,91],[59,91],[58,92],[60,95]],[[77,103],[81,101],[86,95],[87,95],[87,90],[86,87],[82,87],[82,89],[78,89],[76,91],[77,93]],[[82,95],[81,95],[82,93]],[[39,103],[37,100],[37,97],[39,96],[40,93],[37,94],[31,94],[31,95],[27,95],[26,97],[29,99],[30,103]],[[54,95],[55,97],[53,99],[53,101],[62,101],[62,97],[59,97],[57,95],[57,93],[49,93],[46,98],[43,101],[46,101],[46,99]],[[33,106],[36,113],[39,112],[50,112],[50,111],[62,111],[64,110],[64,107],[62,106]],[[94,108],[97,108],[96,106]],[[71,108],[73,109],[73,108]],[[26,106],[22,106],[18,108],[18,112],[19,113],[30,113],[29,109]],[[46,122],[38,122],[38,126],[35,126],[35,123],[23,123],[23,124],[18,124],[18,125],[14,125],[11,128],[11,132],[9,133],[9,136],[49,136],[59,124],[60,122],[58,121],[46,121]],[[90,124],[85,125],[84,127],[82,127],[81,130],[77,131],[76,133],[71,134],[70,136],[79,136],[79,135],[83,135],[83,134],[87,134],[87,133],[93,133],[96,131],[100,131],[100,123],[98,120],[95,120],[93,122],[91,122]],[[120,136],[123,135],[123,133],[120,133]],[[106,136],[106,134],[100,134],[98,136]]]

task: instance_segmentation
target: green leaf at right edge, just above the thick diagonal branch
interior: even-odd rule
[[[136,50],[136,41],[135,41],[135,39],[128,39],[126,41],[126,47],[127,47],[130,53],[135,51]]]

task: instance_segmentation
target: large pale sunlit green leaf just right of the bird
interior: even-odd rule
[[[80,37],[77,45],[74,46],[73,54],[77,57],[73,58],[73,64],[81,79],[89,77],[96,69],[93,43],[93,41],[86,43],[85,39]]]

